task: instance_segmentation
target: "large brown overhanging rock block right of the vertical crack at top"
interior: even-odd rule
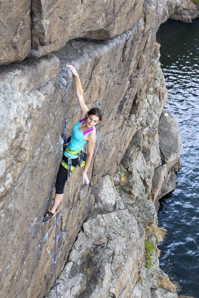
[[[33,0],[32,55],[59,51],[74,38],[113,38],[139,20],[142,4],[143,0],[71,0],[70,5],[65,0]]]

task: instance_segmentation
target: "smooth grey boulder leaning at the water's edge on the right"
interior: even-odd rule
[[[158,200],[176,189],[176,172],[180,170],[183,149],[175,118],[163,110],[158,126],[161,165],[154,171],[150,200],[159,208]]]

